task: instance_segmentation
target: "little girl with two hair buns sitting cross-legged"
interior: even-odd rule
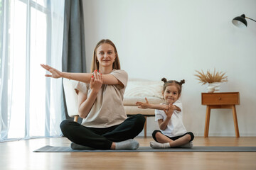
[[[154,130],[152,137],[154,141],[150,142],[152,148],[168,148],[168,147],[193,147],[194,135],[192,132],[187,132],[182,121],[182,103],[178,100],[181,96],[181,86],[185,80],[180,82],[175,80],[164,81],[164,89],[162,94],[165,103],[151,104],[137,102],[138,108],[154,108],[156,118],[159,123],[160,130]]]

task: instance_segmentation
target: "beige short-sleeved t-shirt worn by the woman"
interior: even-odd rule
[[[90,113],[82,120],[82,125],[91,128],[107,128],[119,125],[127,119],[123,98],[128,74],[121,69],[114,69],[110,74],[121,81],[124,88],[119,85],[102,84]],[[90,84],[78,82],[75,86],[75,91],[77,93],[80,91],[88,97],[91,93]]]

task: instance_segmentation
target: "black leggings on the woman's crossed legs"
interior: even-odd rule
[[[78,145],[95,149],[110,149],[112,142],[133,139],[144,128],[145,118],[132,115],[119,125],[109,128],[88,128],[72,120],[63,120],[60,129],[65,137]]]

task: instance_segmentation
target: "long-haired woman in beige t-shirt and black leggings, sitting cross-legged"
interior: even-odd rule
[[[60,72],[45,64],[41,66],[51,74],[46,77],[67,78],[80,81],[75,86],[78,93],[78,112],[82,124],[63,120],[60,128],[68,137],[73,149],[137,149],[133,140],[144,128],[143,115],[127,118],[123,95],[127,86],[127,72],[120,69],[117,49],[110,40],[100,40],[92,57],[92,73]]]

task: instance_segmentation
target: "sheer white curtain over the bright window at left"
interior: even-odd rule
[[[64,2],[0,0],[0,141],[60,135]]]

